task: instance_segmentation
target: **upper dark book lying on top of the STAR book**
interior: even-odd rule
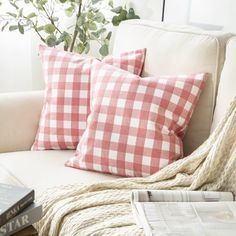
[[[34,190],[0,183],[0,226],[34,201]]]

